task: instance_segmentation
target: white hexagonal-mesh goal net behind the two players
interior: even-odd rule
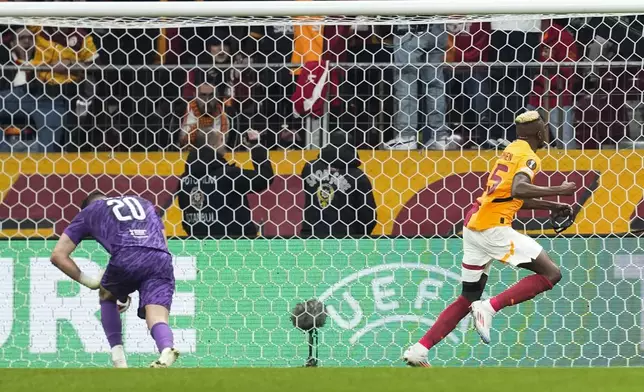
[[[525,110],[536,183],[579,189],[563,235],[514,225],[563,279],[429,360],[644,365],[644,6],[434,3],[0,3],[0,367],[109,365],[96,293],[49,263],[94,191],[158,207],[179,366],[301,366],[313,316],[320,365],[402,366],[460,294],[464,216]],[[495,263],[484,295],[524,275]]]

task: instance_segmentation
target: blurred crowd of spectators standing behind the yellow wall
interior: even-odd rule
[[[87,6],[91,7],[91,1]],[[427,22],[430,19],[426,20]],[[221,23],[221,22],[219,22]],[[0,152],[639,146],[641,16],[165,29],[2,26]]]

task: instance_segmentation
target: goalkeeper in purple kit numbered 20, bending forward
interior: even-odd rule
[[[95,239],[110,254],[102,277],[83,274],[70,258],[86,237]],[[137,196],[89,195],[58,240],[51,262],[80,284],[99,289],[101,322],[112,348],[114,367],[127,367],[119,311],[127,309],[129,295],[134,291],[140,296],[138,316],[146,320],[161,353],[151,367],[163,368],[174,363],[179,352],[174,348],[168,326],[175,289],[174,270],[163,222],[152,203]]]

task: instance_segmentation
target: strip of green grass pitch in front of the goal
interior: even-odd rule
[[[643,391],[644,368],[7,369],[0,391]]]

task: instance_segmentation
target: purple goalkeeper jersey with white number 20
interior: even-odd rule
[[[138,196],[112,197],[92,202],[74,217],[65,234],[75,244],[91,236],[111,256],[129,247],[169,253],[163,222],[154,205]]]

